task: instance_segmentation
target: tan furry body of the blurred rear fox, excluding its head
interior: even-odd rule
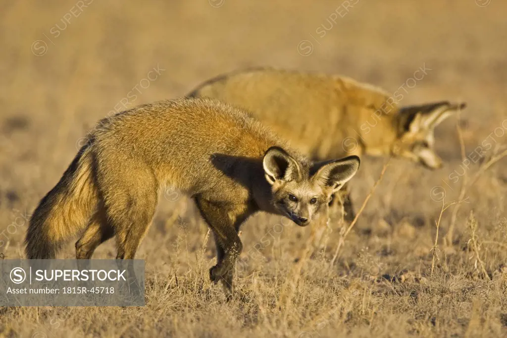
[[[293,147],[319,160],[365,153],[396,155],[392,148],[402,135],[402,108],[394,98],[389,100],[390,94],[381,88],[343,76],[253,69],[211,79],[189,96],[244,108]],[[382,116],[376,118],[376,111]],[[357,149],[344,149],[346,138],[356,139]]]

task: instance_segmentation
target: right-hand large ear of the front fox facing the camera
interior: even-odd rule
[[[333,192],[336,192],[355,175],[359,163],[357,156],[315,163],[312,179],[322,186],[332,187]]]

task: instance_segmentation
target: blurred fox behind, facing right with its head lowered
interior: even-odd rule
[[[434,151],[434,128],[466,107],[447,101],[398,107],[399,97],[347,77],[270,67],[218,76],[188,96],[219,99],[246,109],[314,160],[393,156],[432,170],[442,166]],[[333,204],[341,204],[345,220],[351,222],[355,213],[348,185],[337,197],[340,202]]]

